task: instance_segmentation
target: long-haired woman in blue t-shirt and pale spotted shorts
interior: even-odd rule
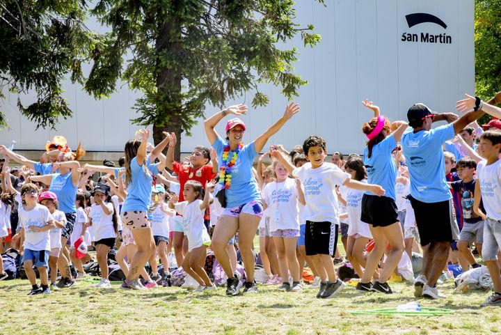
[[[155,250],[148,210],[152,185],[155,185],[159,171],[165,168],[166,160],[161,152],[170,141],[170,135],[164,132],[166,138],[147,155],[150,130],[140,130],[138,135],[141,141],[132,140],[125,143],[127,197],[122,205],[122,224],[132,231],[137,247],[136,254],[130,260],[130,271],[122,283],[122,288],[133,290],[144,288],[138,281],[139,272]],[[157,157],[160,162],[152,164]]]

